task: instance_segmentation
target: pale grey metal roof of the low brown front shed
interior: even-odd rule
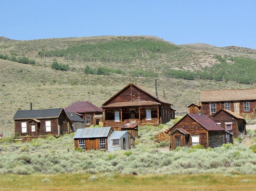
[[[111,127],[78,129],[74,139],[107,137]]]

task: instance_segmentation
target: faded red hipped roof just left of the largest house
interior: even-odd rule
[[[67,106],[64,110],[68,112],[102,112],[102,109],[90,103],[89,101],[77,101]]]

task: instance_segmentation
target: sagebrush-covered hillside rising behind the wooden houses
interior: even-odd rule
[[[231,50],[205,44],[175,45],[153,36],[1,40],[0,54],[9,58],[25,56],[34,59],[35,64],[0,59],[0,132],[11,135],[16,110],[29,109],[30,102],[34,109],[66,107],[82,100],[101,106],[130,82],[154,91],[154,79],[158,80],[159,94],[165,90],[166,100],[174,105],[177,114],[184,114],[187,105],[199,101],[200,90],[254,87],[234,80],[185,80],[165,74],[170,69],[196,71],[222,64],[218,55],[226,57],[228,64],[233,64],[229,57],[239,57],[249,59],[254,66],[253,51]],[[68,64],[70,69],[53,70],[54,60]],[[119,69],[122,73],[85,74],[86,66]],[[138,70],[141,73],[136,73]]]

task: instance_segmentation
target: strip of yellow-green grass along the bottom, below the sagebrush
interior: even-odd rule
[[[18,190],[140,190],[140,191],[253,191],[256,190],[255,175],[201,174],[201,175],[117,175],[97,174],[97,180],[90,181],[92,175],[82,173],[0,175],[1,191]],[[89,179],[89,181],[88,181]]]

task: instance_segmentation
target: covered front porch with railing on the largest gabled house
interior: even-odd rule
[[[139,125],[161,124],[160,109],[158,105],[147,107],[123,107],[103,109],[104,126],[122,126],[127,123]]]

